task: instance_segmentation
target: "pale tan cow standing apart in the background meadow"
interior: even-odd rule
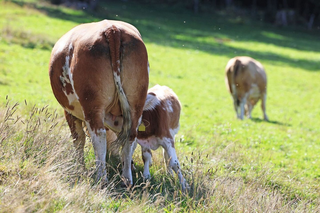
[[[265,120],[267,99],[267,76],[259,61],[247,56],[231,58],[225,69],[226,85],[233,97],[237,117],[244,118],[244,113],[251,118],[253,106],[261,98],[261,108]],[[240,113],[239,113],[240,107]]]

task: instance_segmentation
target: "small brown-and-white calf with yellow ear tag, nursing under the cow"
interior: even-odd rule
[[[137,139],[141,146],[144,163],[143,175],[150,178],[149,164],[151,164],[151,149],[163,148],[163,155],[170,174],[176,172],[182,189],[188,184],[181,173],[180,163],[174,146],[174,136],[179,130],[181,105],[177,95],[166,86],[156,85],[148,90],[147,100],[143,107],[142,123],[145,131],[138,131]],[[122,125],[122,118],[117,117],[115,122]],[[114,131],[119,126],[112,126]]]

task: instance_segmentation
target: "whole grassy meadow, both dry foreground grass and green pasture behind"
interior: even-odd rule
[[[140,31],[149,87],[166,85],[180,98],[176,148],[191,186],[187,194],[165,174],[160,149],[147,181],[138,146],[135,186],[128,190],[118,183],[117,158],[109,159],[109,186],[93,186],[89,139],[86,170],[76,164],[48,62],[64,33],[103,19]],[[230,11],[194,15],[161,4],[108,1],[93,13],[0,0],[0,212],[319,211],[319,36],[319,30],[277,28]],[[260,102],[252,119],[236,119],[224,67],[239,55],[266,69],[270,122]]]

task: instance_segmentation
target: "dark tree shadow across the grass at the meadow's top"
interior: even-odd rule
[[[23,6],[23,0],[12,2]],[[233,23],[232,18],[217,14],[195,16],[192,12],[181,9],[175,13],[171,8],[157,8],[154,5],[142,5],[135,2],[101,2],[98,11],[62,10],[49,4],[28,3],[48,16],[73,21],[76,23],[96,22],[103,19],[117,19],[131,23],[138,28],[144,42],[179,49],[193,49],[213,55],[235,57],[246,55],[270,64],[284,64],[309,71],[320,71],[320,62],[308,59],[295,60],[284,55],[271,53],[265,49],[249,49],[228,46],[232,41],[251,41],[303,51],[320,52],[320,43],[315,42],[316,33],[297,30],[279,29],[261,23]],[[192,56],[191,56],[192,57]]]

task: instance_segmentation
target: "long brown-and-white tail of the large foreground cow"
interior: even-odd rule
[[[124,94],[120,78],[120,30],[112,25],[107,28],[105,35],[110,47],[110,56],[113,70],[113,78],[116,84],[116,92],[119,98],[120,109],[123,116],[123,126],[118,138],[113,143],[119,148],[129,141],[131,134],[131,111],[128,99]]]

